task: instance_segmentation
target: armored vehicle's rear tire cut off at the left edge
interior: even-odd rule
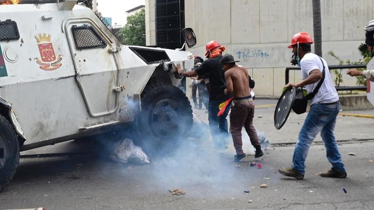
[[[0,115],[0,190],[12,179],[18,163],[17,134],[9,121]]]

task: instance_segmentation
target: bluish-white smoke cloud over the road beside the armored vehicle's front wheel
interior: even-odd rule
[[[204,183],[219,188],[223,187],[223,183],[228,183],[235,178],[237,170],[234,154],[236,152],[231,134],[228,138],[229,149],[217,152],[213,149],[209,126],[199,121],[196,116],[194,116],[193,126],[183,124],[183,122],[178,123],[180,123],[179,126],[186,126],[189,131],[177,140],[161,139],[166,142],[163,143],[162,148],[156,149],[156,153],[147,153],[151,163],[146,167],[149,167],[152,174],[150,179],[154,180],[156,185],[165,189]],[[128,133],[122,133],[122,136],[126,138]],[[154,140],[141,139],[142,142]],[[254,148],[244,129],[242,141],[244,152],[254,155]],[[136,143],[136,140],[134,142]],[[143,146],[144,151],[149,151],[146,146],[140,146]],[[246,159],[243,159],[244,163],[239,164],[246,164],[248,162]]]

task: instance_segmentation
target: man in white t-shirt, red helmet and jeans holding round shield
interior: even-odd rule
[[[332,166],[328,172],[320,175],[322,177],[345,178],[347,173],[341,161],[341,155],[334,136],[336,117],[339,113],[339,96],[332,82],[326,61],[311,53],[310,45],[312,43],[312,37],[308,33],[300,32],[292,37],[291,45],[288,46],[288,48],[292,48],[292,53],[295,55],[294,58],[299,61],[303,80],[297,84],[288,83],[285,86],[286,88],[305,86],[308,93],[313,92],[322,79],[324,68],[325,79],[311,101],[312,106],[300,130],[292,158],[292,167],[279,169],[278,171],[285,176],[303,179],[309,147],[316,135],[321,132],[327,159]]]

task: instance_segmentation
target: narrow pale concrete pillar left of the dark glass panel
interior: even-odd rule
[[[145,44],[156,45],[155,0],[145,0]]]

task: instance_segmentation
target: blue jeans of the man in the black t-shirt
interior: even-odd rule
[[[218,107],[224,101],[211,101],[209,100],[208,105],[208,120],[209,129],[213,139],[213,145],[215,149],[224,149],[225,145],[228,145],[228,125],[227,125],[227,115],[229,110],[227,109],[223,115],[217,116],[220,108]]]

